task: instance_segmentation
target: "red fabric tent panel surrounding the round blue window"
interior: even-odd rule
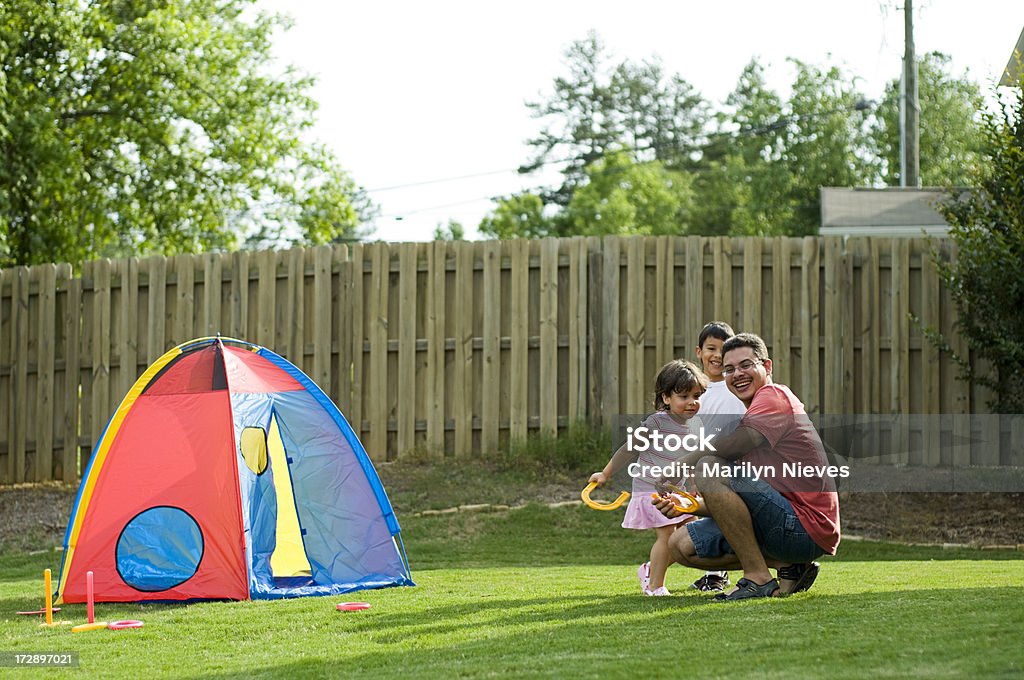
[[[85,601],[89,570],[97,601],[249,598],[228,393],[161,393],[166,379],[182,386],[202,376],[203,355],[212,352],[180,359],[125,417],[91,494],[65,601]],[[119,576],[117,543],[134,516],[156,506],[180,508],[198,522],[203,557],[184,583],[143,593]]]

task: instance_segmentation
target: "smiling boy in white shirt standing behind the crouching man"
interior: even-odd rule
[[[746,407],[729,391],[722,375],[722,345],[734,336],[732,327],[725,322],[711,322],[700,329],[696,354],[708,376],[708,391],[700,397],[700,420],[706,431],[724,436],[736,429],[736,424]],[[703,592],[722,592],[729,585],[728,571],[708,571],[693,582],[690,588]]]

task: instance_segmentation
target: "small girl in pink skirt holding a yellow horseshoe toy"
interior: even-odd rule
[[[654,379],[654,413],[644,419],[641,427],[650,432],[658,431],[663,436],[676,434],[679,437],[697,432],[700,421],[694,418],[700,409],[700,395],[708,387],[708,378],[700,369],[690,362],[675,359],[666,364]],[[639,428],[638,428],[639,429]],[[650,442],[654,437],[646,437]],[[637,577],[640,579],[640,589],[645,595],[671,595],[665,587],[665,572],[669,569],[671,557],[669,553],[669,538],[676,526],[692,519],[692,515],[683,515],[669,519],[658,512],[650,502],[654,493],[654,483],[658,475],[645,471],[644,466],[668,466],[679,459],[686,451],[662,451],[648,447],[647,451],[638,452],[639,474],[633,477],[633,493],[630,504],[623,519],[624,528],[654,529],[654,545],[650,549],[650,561],[640,565]],[[608,464],[600,472],[591,475],[590,481],[601,485],[611,479],[616,470],[623,467],[636,455],[620,447]],[[664,476],[672,476],[666,474]]]

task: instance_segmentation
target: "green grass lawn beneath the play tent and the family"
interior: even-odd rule
[[[78,651],[90,677],[1016,677],[1024,553],[849,542],[807,593],[715,604],[639,594],[653,537],[621,512],[530,506],[407,517],[416,588],[187,605],[99,604],[136,631],[73,635],[14,611],[59,553],[0,556],[0,649]],[[367,611],[335,603],[365,600]],[[85,605],[59,618],[82,623]],[[52,671],[51,671],[52,672]],[[74,671],[65,671],[74,672]],[[29,677],[32,671],[0,669]],[[42,672],[36,671],[41,675]]]

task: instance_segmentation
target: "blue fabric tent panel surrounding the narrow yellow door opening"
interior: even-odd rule
[[[231,394],[236,440],[247,427],[270,431],[275,418],[288,465],[287,472],[271,465],[256,474],[239,456],[251,597],[415,585],[390,501],[351,427],[298,369],[266,349],[260,353],[305,389]],[[278,540],[275,473],[287,474],[292,485],[308,577],[275,578],[270,566]]]

